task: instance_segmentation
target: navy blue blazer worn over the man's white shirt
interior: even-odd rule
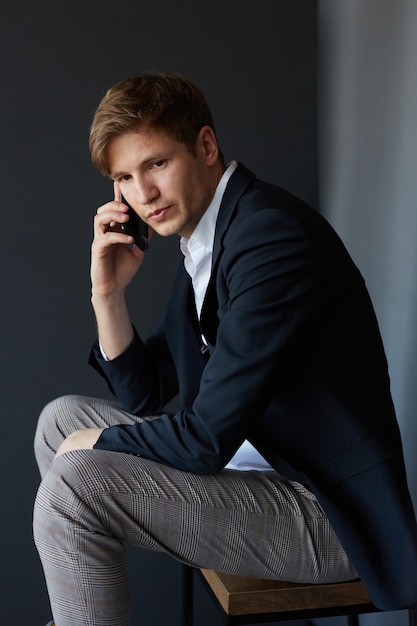
[[[317,495],[378,607],[417,601],[416,520],[377,321],[317,211],[239,165],[200,324],[181,263],[149,339],[110,362],[96,344],[90,362],[127,411],[162,413],[106,429],[95,448],[211,474],[249,439]],[[165,412],[176,395],[180,410]]]

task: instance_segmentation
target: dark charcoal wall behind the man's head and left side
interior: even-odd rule
[[[3,4],[0,619],[42,625],[49,607],[31,531],[37,416],[64,393],[107,395],[86,364],[92,216],[111,197],[89,162],[92,112],[127,74],[182,72],[212,103],[227,158],[316,204],[316,2]],[[178,257],[175,239],[152,244],[131,297],[142,332],[165,301]],[[139,551],[129,561],[141,623],[178,623],[176,564]]]

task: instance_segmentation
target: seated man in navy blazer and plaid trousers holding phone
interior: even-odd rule
[[[57,626],[128,623],[125,542],[232,574],[359,575],[381,608],[414,603],[416,525],[385,355],[337,235],[225,164],[184,77],[111,88],[90,150],[114,181],[95,216],[90,361],[117,402],[59,398],[39,420],[35,540]],[[126,304],[146,256],[127,203],[184,253],[146,342]]]

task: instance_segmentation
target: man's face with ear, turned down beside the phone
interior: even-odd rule
[[[108,146],[116,192],[162,236],[190,237],[223,173],[209,127],[201,129],[195,147],[194,156],[183,143],[149,128],[119,135]]]

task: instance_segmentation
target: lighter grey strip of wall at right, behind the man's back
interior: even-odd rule
[[[321,207],[375,305],[417,506],[417,5],[319,7]]]

